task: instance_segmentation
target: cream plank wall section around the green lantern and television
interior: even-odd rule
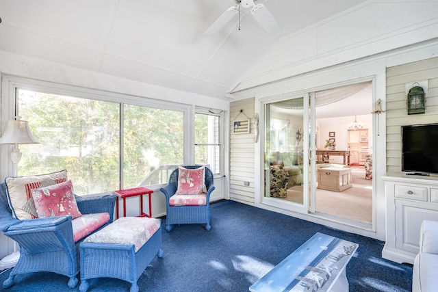
[[[407,114],[406,83],[428,80],[426,113]],[[438,57],[387,68],[387,172],[402,170],[401,126],[438,122]]]

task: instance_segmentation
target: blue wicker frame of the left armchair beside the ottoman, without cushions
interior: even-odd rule
[[[82,214],[114,214],[116,195],[75,196]],[[104,225],[105,226],[105,225]],[[3,288],[14,284],[15,276],[36,271],[50,271],[68,276],[68,286],[74,288],[79,273],[79,242],[73,241],[71,216],[18,220],[12,217],[5,183],[0,183],[0,230],[20,245],[20,259]]]

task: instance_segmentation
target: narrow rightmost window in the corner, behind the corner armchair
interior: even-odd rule
[[[195,163],[205,164],[214,174],[220,173],[220,116],[195,114]]]

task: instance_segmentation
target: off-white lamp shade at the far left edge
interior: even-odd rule
[[[8,120],[5,133],[0,138],[0,144],[37,144],[40,143],[32,135],[29,122],[25,120]]]

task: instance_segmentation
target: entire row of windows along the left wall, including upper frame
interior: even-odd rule
[[[81,195],[162,185],[178,165],[221,172],[220,114],[40,81],[7,86],[16,100],[7,103],[10,112],[27,120],[40,142],[20,145],[18,176],[66,169]],[[186,127],[192,115],[194,137]]]

